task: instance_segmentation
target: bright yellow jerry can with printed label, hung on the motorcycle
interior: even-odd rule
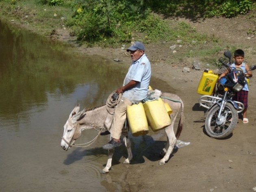
[[[218,77],[217,74],[213,74],[213,71],[204,70],[197,87],[197,93],[201,95],[212,95]]]

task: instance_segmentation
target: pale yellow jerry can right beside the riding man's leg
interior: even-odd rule
[[[141,102],[127,106],[126,114],[132,136],[137,137],[148,134],[148,121]]]

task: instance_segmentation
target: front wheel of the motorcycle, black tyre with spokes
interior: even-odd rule
[[[218,120],[219,106],[215,105],[207,113],[205,129],[210,137],[223,139],[229,136],[237,124],[238,113],[230,103],[226,103]]]

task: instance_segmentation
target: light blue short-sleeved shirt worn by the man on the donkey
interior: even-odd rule
[[[145,99],[148,95],[150,77],[150,61],[147,56],[143,54],[137,61],[132,61],[124,79],[123,86],[128,84],[131,80],[137,81],[138,83],[134,87],[124,91],[122,97],[129,99],[132,103],[139,103]]]

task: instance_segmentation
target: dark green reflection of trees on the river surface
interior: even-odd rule
[[[94,105],[122,82],[117,66],[102,63],[102,58],[67,54],[63,44],[35,38],[2,22],[0,28],[0,107],[4,109],[0,114],[11,119],[32,106],[47,104],[48,93],[91,98],[83,104]]]

